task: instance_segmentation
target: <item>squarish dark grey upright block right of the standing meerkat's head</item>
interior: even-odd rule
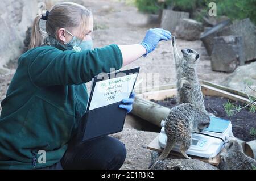
[[[211,65],[213,71],[233,72],[245,64],[242,36],[214,37]]]

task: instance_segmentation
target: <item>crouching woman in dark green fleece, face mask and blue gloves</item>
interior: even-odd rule
[[[40,30],[46,20],[46,32]],[[109,45],[92,50],[92,12],[76,3],[58,3],[37,16],[30,50],[19,65],[2,101],[0,169],[119,169],[125,145],[104,136],[76,142],[85,112],[85,83],[109,73],[155,49],[171,33],[150,29],[141,44]],[[47,34],[46,34],[47,33]],[[43,45],[48,36],[49,45]],[[133,95],[134,96],[134,95]],[[131,111],[133,97],[120,108]],[[45,157],[43,157],[45,156]]]

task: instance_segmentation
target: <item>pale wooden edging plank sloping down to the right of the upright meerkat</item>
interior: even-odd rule
[[[201,90],[203,92],[204,95],[209,95],[209,96],[222,96],[234,101],[240,101],[242,103],[250,103],[250,100],[240,96],[240,95],[236,95],[236,94],[232,94],[230,92],[221,90],[221,89],[217,89],[215,87],[212,86],[208,86],[208,85],[201,85]]]

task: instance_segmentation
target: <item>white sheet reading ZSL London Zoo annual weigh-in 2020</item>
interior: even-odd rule
[[[136,78],[137,74],[131,74],[96,82],[89,110],[129,98]]]

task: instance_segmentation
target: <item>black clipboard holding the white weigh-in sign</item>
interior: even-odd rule
[[[97,75],[94,77],[86,112],[82,116],[79,124],[79,130],[77,134],[77,138],[79,141],[89,141],[93,140],[94,138],[121,132],[123,130],[123,125],[125,123],[126,117],[126,110],[119,108],[119,105],[122,103],[122,100],[116,103],[112,103],[106,106],[90,110],[89,108],[92,102],[93,92],[96,83],[104,81],[102,77],[106,78],[106,76],[108,76],[108,78],[111,79],[123,77],[130,74],[137,74],[131,90],[131,92],[133,92],[135,82],[137,81],[138,78],[138,73],[139,67],[129,70],[114,71],[108,74]]]

